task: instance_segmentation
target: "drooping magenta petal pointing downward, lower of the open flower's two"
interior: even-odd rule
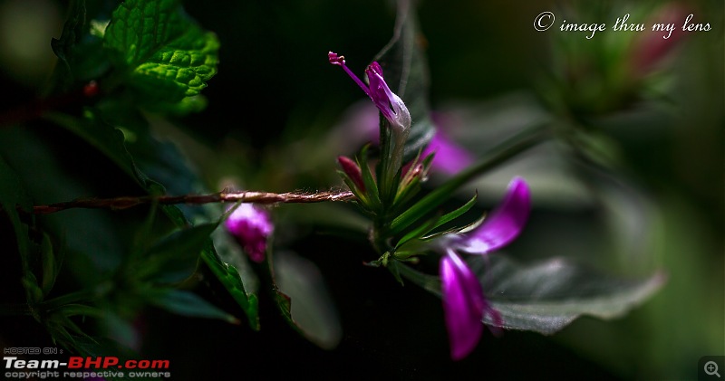
[[[487,303],[478,279],[452,250],[440,260],[440,281],[450,357],[459,360],[468,356],[481,338]]]

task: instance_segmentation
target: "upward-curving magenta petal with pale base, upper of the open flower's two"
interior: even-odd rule
[[[485,254],[513,241],[527,224],[531,210],[531,192],[526,181],[516,177],[508,184],[506,198],[476,230],[467,234],[456,249],[471,254]]]

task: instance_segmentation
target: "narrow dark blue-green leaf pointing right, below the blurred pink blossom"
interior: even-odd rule
[[[181,290],[161,290],[148,295],[150,304],[169,312],[191,318],[208,318],[225,320],[228,323],[239,324],[239,320],[217,306],[202,299],[197,294]]]

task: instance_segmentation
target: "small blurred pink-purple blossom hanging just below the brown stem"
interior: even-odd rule
[[[254,262],[265,260],[266,239],[274,230],[266,210],[252,204],[242,204],[224,222],[227,232],[237,239]]]

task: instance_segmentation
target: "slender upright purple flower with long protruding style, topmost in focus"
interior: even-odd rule
[[[335,52],[328,52],[327,59],[333,65],[341,66],[343,70],[360,86],[360,88],[368,94],[372,103],[382,112],[382,116],[391,123],[391,128],[396,133],[404,132],[411,129],[411,113],[405,107],[405,103],[401,97],[395,95],[382,78],[382,68],[378,62],[372,62],[365,74],[368,76],[370,85],[365,85],[353,71],[345,65],[345,57]]]

